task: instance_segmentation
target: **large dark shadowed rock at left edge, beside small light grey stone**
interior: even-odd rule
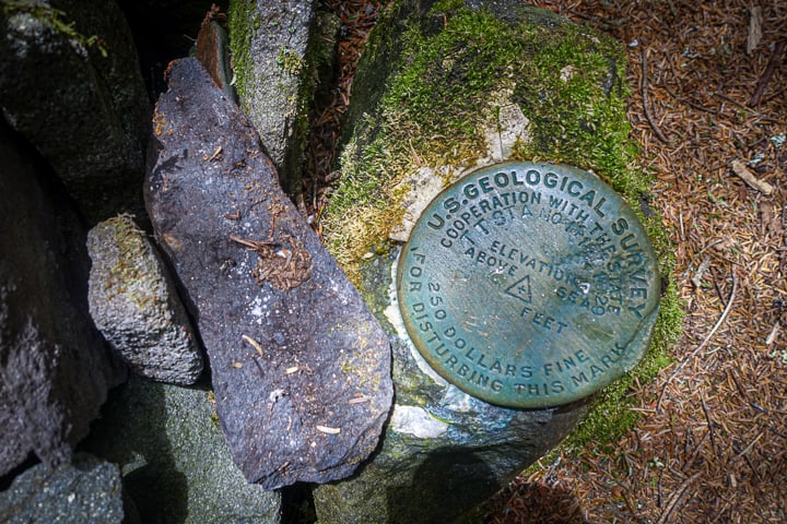
[[[34,155],[0,121],[0,475],[67,461],[122,378],[87,312],[86,229]]]

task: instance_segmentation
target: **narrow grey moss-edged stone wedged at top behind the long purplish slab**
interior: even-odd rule
[[[232,0],[228,13],[240,107],[284,189],[298,194],[308,111],[322,66],[332,63],[327,41],[334,39],[338,19],[314,0]]]

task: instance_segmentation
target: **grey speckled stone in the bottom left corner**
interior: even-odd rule
[[[33,466],[0,491],[0,522],[128,523],[122,495],[115,464],[77,453],[71,462],[55,468]]]

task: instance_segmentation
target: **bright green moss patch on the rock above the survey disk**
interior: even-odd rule
[[[514,159],[594,170],[629,202],[648,193],[650,178],[633,169],[620,43],[560,17],[509,24],[451,5],[433,10],[443,25],[435,34],[411,23],[399,36],[400,67],[381,102],[354,122],[342,156],[342,182],[324,224],[329,249],[355,281],[360,261],[387,248],[401,218],[401,181],[422,166],[458,172],[484,157],[483,127],[498,99],[516,103],[530,120],[530,141],[516,145]],[[384,44],[369,43],[377,61],[388,60]]]

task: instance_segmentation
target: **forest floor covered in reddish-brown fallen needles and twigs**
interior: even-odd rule
[[[327,3],[349,32],[310,145],[316,214],[380,2]],[[684,334],[631,391],[632,430],[559,449],[497,495],[488,522],[787,522],[787,2],[531,3],[626,46],[629,120],[674,245]]]

